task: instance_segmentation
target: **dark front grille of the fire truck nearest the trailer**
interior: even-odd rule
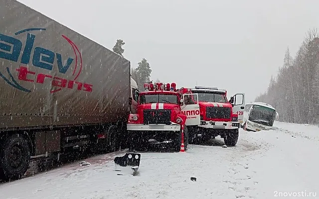
[[[144,124],[170,124],[170,113],[169,109],[147,109],[143,110]]]

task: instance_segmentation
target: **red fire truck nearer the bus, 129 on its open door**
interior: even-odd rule
[[[198,141],[198,136],[202,141],[206,141],[220,135],[221,138],[224,138],[226,145],[236,145],[238,129],[243,120],[245,94],[236,94],[228,101],[227,91],[217,88],[195,87],[179,90],[179,93],[181,95],[184,93],[197,94],[188,100],[199,101],[200,124],[188,126],[188,143]]]

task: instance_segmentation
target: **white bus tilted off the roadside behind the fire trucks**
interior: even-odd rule
[[[269,130],[272,128],[275,119],[278,119],[276,109],[264,102],[247,103],[244,109],[243,125],[247,131]]]

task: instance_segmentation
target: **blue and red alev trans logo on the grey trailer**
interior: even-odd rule
[[[44,84],[44,82],[49,81],[52,88],[55,88],[51,89],[50,93],[55,93],[62,89],[92,92],[93,85],[76,81],[82,72],[82,55],[77,45],[65,35],[61,35],[74,52],[73,57],[62,57],[59,53],[59,48],[56,48],[58,52],[54,52],[52,49],[34,45],[36,40],[36,36],[32,34],[34,31],[46,31],[46,29],[27,28],[15,32],[14,36],[0,33],[0,61],[2,61],[2,67],[4,67],[0,69],[0,77],[15,89],[28,93],[31,91],[22,87],[19,84],[21,81],[33,83],[35,87],[37,84]],[[19,39],[21,34],[27,34],[25,41]],[[40,35],[42,34],[38,34],[37,37],[40,37]],[[62,49],[66,44],[55,43],[54,45],[61,46]],[[39,45],[41,45],[41,42]],[[24,48],[22,48],[23,46]],[[74,69],[69,72],[72,73],[72,79],[63,78],[66,77],[65,74],[72,64],[74,64]],[[58,73],[53,73],[53,67],[56,66]],[[37,70],[39,68],[45,70]],[[47,73],[35,71],[47,71]],[[30,85],[30,87],[32,86]]]

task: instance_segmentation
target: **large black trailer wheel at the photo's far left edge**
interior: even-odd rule
[[[5,180],[21,178],[29,168],[30,148],[26,140],[14,134],[9,136],[0,151],[0,167]]]

